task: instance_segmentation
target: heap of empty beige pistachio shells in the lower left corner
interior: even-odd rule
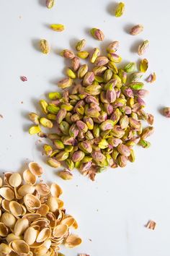
[[[76,220],[66,214],[58,184],[37,182],[42,167],[29,163],[23,178],[7,172],[0,178],[0,255],[59,256],[59,245],[76,247]]]

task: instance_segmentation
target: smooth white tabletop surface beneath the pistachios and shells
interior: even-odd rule
[[[51,10],[44,7],[44,2],[0,1],[0,114],[4,116],[0,120],[1,171],[21,170],[27,161],[38,161],[45,167],[46,179],[55,179],[63,187],[66,209],[79,221],[76,233],[84,240],[80,247],[63,249],[67,256],[78,252],[91,256],[169,256],[170,120],[158,110],[170,105],[170,3],[128,0],[123,17],[115,18],[110,14],[115,2],[109,0],[58,0]],[[51,23],[63,23],[66,30],[55,33],[48,28]],[[144,25],[144,32],[129,35],[127,29],[138,23]],[[91,27],[104,31],[104,42],[91,38],[87,33]],[[37,51],[41,38],[50,42],[48,56]],[[44,93],[57,90],[55,83],[63,77],[66,62],[56,51],[71,48],[75,39],[81,38],[86,38],[87,48],[104,48],[109,41],[120,40],[125,61],[138,60],[135,46],[140,40],[150,40],[145,56],[149,72],[156,72],[157,81],[146,85],[151,92],[146,101],[148,111],[155,115],[156,132],[151,137],[151,148],[136,148],[137,159],[127,168],[108,170],[97,176],[96,182],[74,171],[73,181],[63,182],[43,163],[37,137],[27,133],[30,121],[26,116],[35,111]],[[28,81],[22,82],[21,75]],[[149,219],[156,221],[155,231],[144,227]]]

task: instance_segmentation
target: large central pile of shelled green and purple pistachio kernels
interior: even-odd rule
[[[91,34],[98,40],[104,38],[96,28]],[[139,46],[139,55],[148,47],[145,42]],[[107,56],[101,56],[99,48],[91,53],[81,51],[85,44],[84,39],[76,44],[76,55],[63,50],[61,55],[70,60],[67,77],[58,82],[63,92],[49,93],[49,102],[40,100],[44,116],[29,115],[36,124],[30,127],[30,134],[37,133],[52,142],[45,144],[43,151],[48,165],[66,168],[58,173],[63,179],[72,179],[73,168],[94,180],[107,166],[125,167],[128,161],[135,161],[133,147],[138,144],[148,148],[146,138],[153,133],[153,115],[143,110],[148,91],[140,81],[148,61],[141,61],[139,72],[134,62],[121,67],[122,58],[115,53],[118,41],[109,44]],[[94,67],[89,70],[80,59],[89,59]],[[148,123],[145,128],[143,121]],[[55,132],[42,132],[40,126]]]

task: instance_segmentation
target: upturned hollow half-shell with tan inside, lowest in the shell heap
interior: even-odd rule
[[[9,247],[22,256],[26,256],[30,253],[30,247],[24,240],[14,240],[9,243]]]

